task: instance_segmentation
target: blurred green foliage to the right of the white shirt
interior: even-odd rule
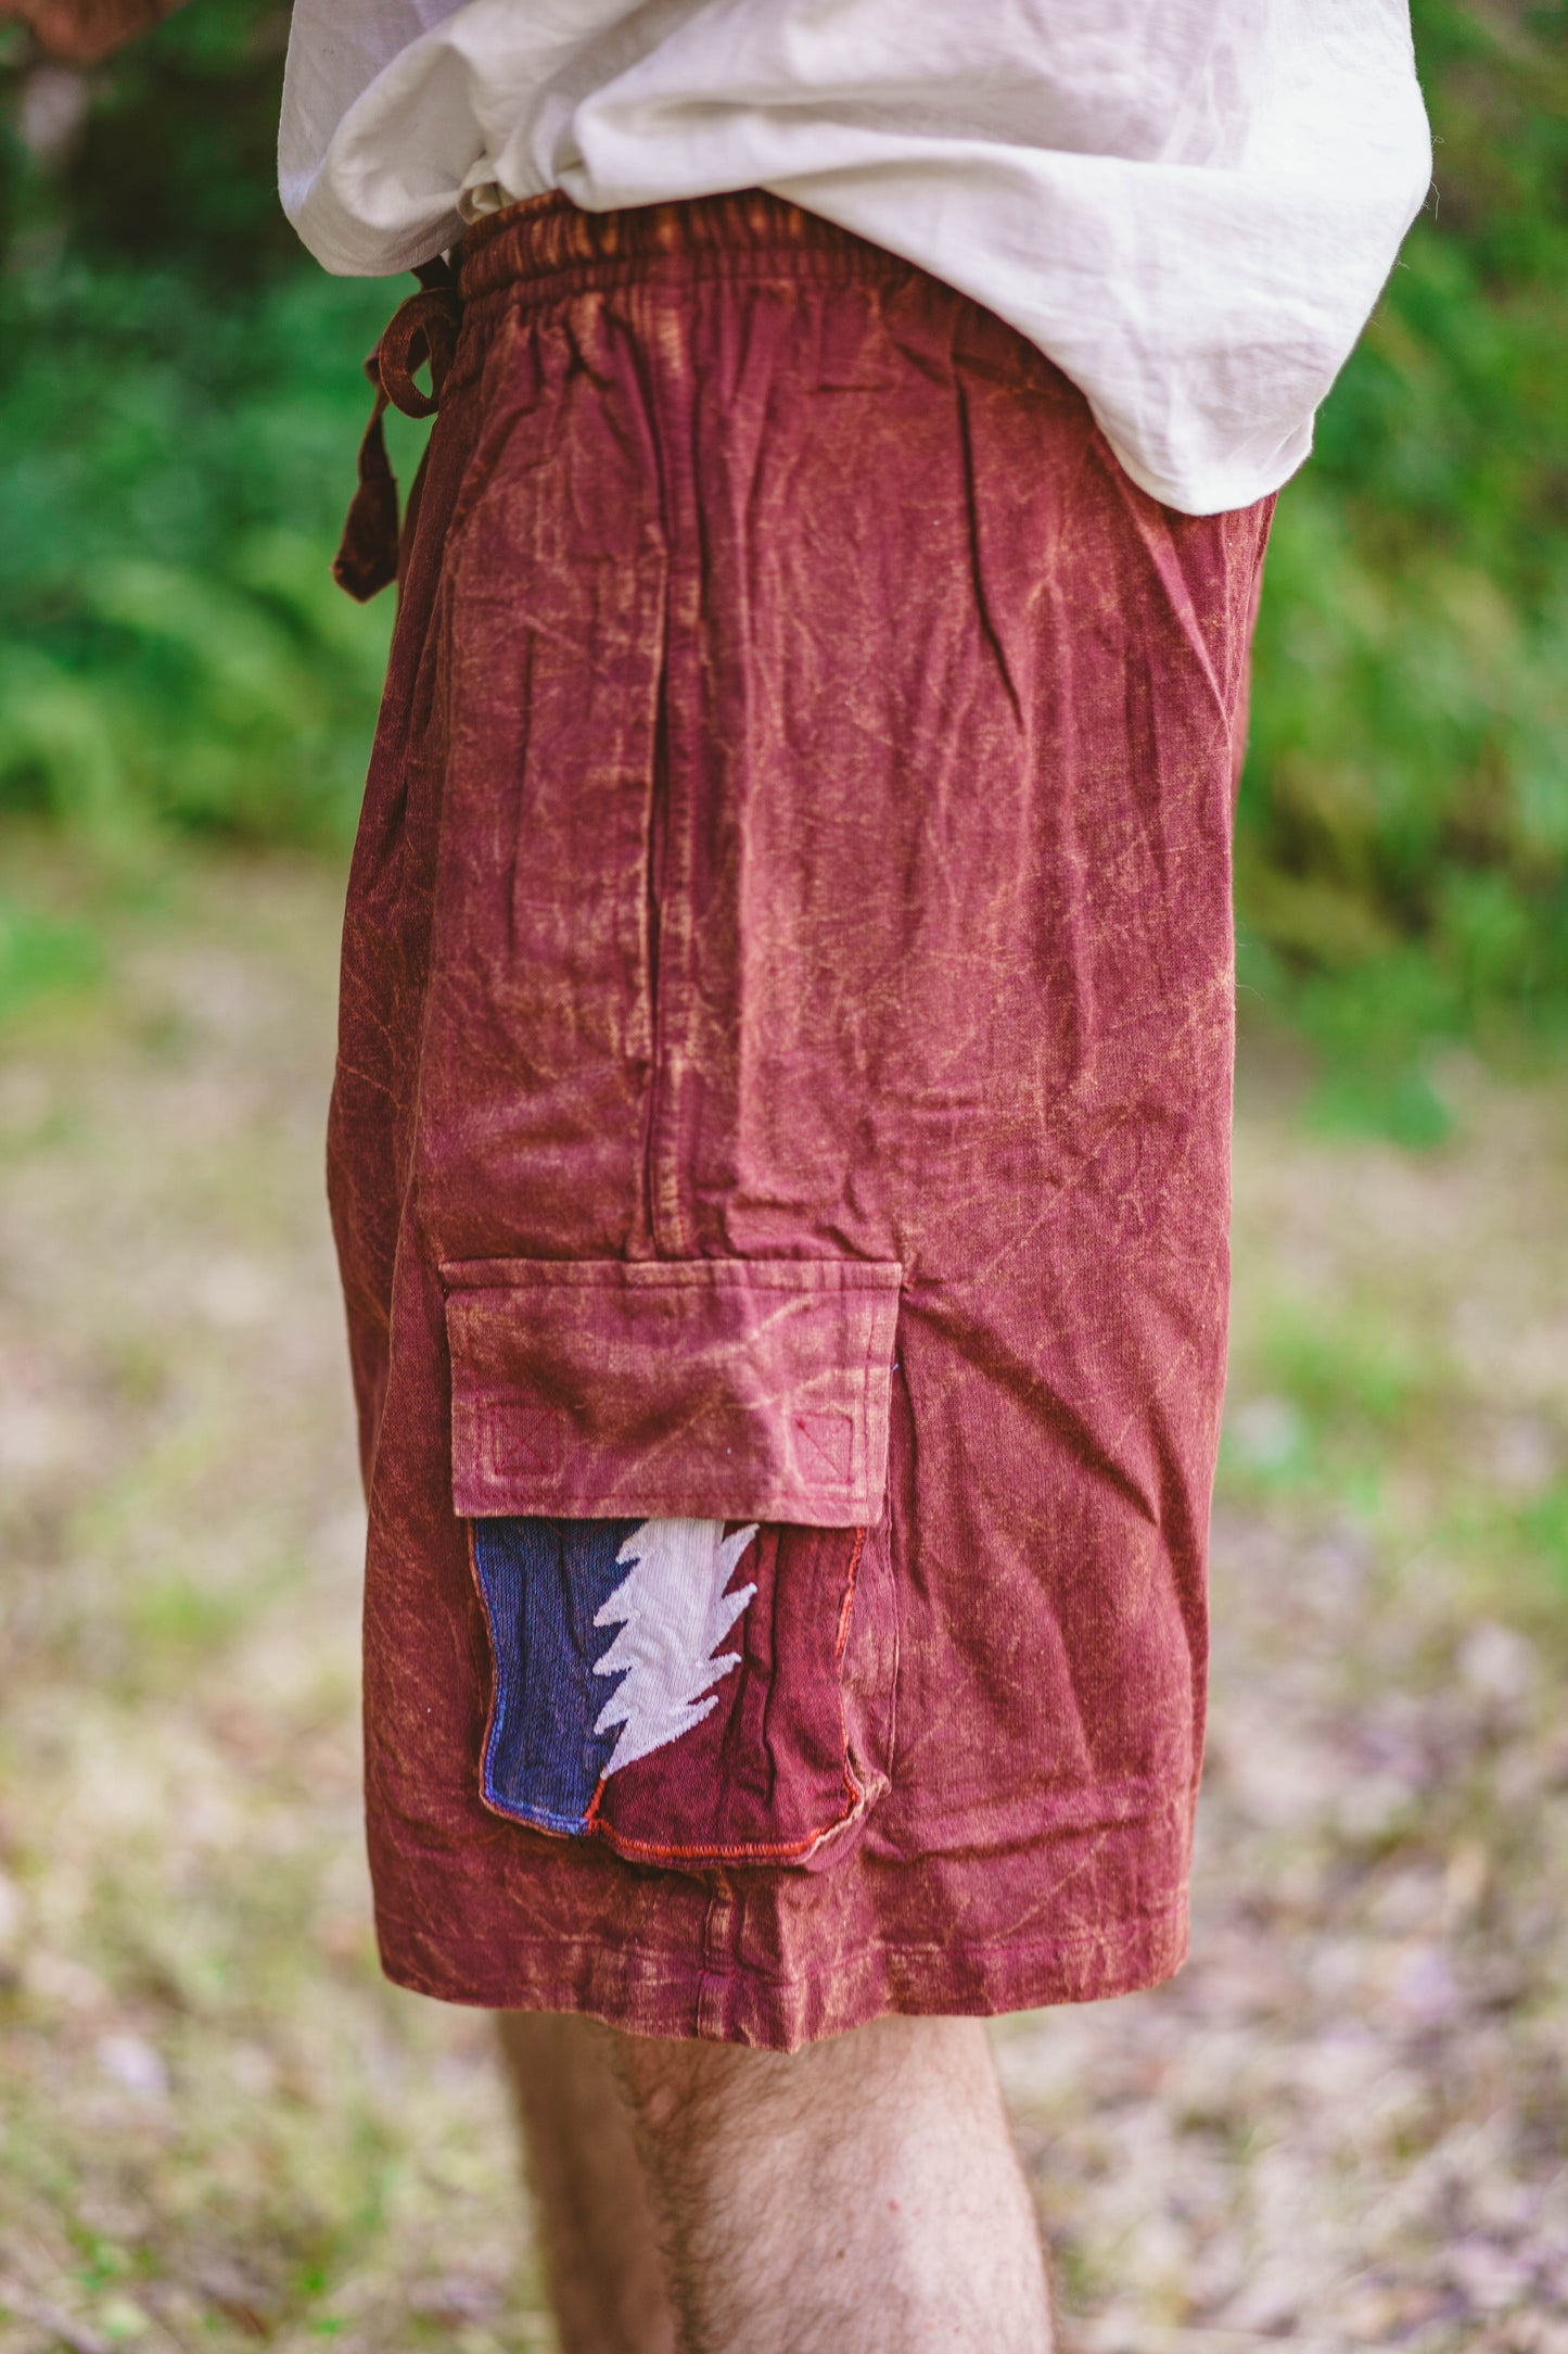
[[[1281,497],[1258,631],[1244,979],[1410,1142],[1441,1132],[1422,1040],[1568,1003],[1566,28],[1418,0],[1436,195]]]

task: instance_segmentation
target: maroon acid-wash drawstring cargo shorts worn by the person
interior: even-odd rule
[[[531,200],[414,313],[329,1142],[386,1968],[780,2050],[1147,1987],[1267,501],[769,195]]]

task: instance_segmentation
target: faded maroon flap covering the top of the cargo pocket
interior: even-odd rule
[[[882,1514],[903,1269],[870,1259],[456,1259],[465,1518]]]

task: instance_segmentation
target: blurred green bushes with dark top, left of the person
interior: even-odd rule
[[[103,847],[353,826],[390,600],[327,563],[395,294],[277,212],[284,33],[197,0],[94,75],[5,56],[0,810]]]

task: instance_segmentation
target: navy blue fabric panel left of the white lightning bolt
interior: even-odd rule
[[[475,1521],[473,1549],[496,1655],[484,1796],[545,1831],[583,1831],[616,1747],[595,1721],[616,1683],[592,1662],[611,1631],[595,1612],[625,1577],[616,1554],[639,1521]]]

